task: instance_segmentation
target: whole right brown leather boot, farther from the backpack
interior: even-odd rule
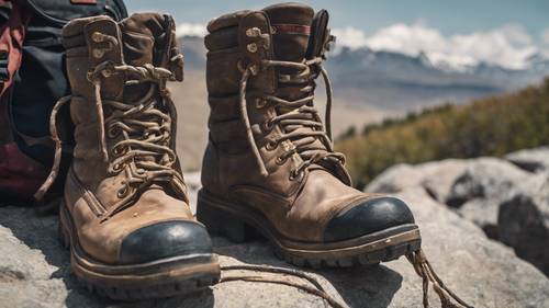
[[[419,248],[401,199],[350,186],[313,105],[329,41],[326,11],[284,3],[208,25],[210,142],[198,219],[242,241],[253,230],[279,256],[318,267],[372,264]],[[251,228],[250,228],[251,227]]]

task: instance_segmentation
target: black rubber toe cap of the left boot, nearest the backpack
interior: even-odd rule
[[[130,233],[122,241],[120,262],[136,264],[195,253],[212,253],[206,229],[194,221],[164,221]]]

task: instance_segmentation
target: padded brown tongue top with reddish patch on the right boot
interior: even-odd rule
[[[281,3],[264,9],[274,30],[272,35],[278,60],[301,61],[305,57],[314,11],[301,3]]]

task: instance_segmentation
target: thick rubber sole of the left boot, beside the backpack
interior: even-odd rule
[[[86,255],[61,203],[59,239],[70,249],[70,266],[88,290],[116,300],[164,298],[200,292],[220,281],[215,254],[191,254],[141,264],[111,265]],[[71,230],[71,231],[69,231]]]

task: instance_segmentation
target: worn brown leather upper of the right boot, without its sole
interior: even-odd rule
[[[298,107],[266,103],[262,98],[271,95],[298,101],[310,95],[315,83],[314,80],[284,82],[284,79],[295,78],[299,69],[261,64],[269,60],[303,62],[321,57],[325,52],[325,37],[318,36],[325,35],[326,22],[325,11],[315,15],[304,4],[276,4],[260,11],[239,11],[220,16],[209,23],[210,33],[204,39],[209,50],[206,80],[211,107],[210,144],[202,169],[204,190],[228,202],[259,210],[283,237],[301,241],[341,240],[372,231],[376,229],[372,226],[355,224],[344,231],[339,231],[341,228],[330,231],[325,237],[327,226],[339,213],[381,201],[378,195],[352,189],[340,160],[315,161],[299,176],[293,176],[293,171],[304,160],[315,157],[312,153],[322,156],[332,152],[330,141],[320,135],[311,136],[324,129],[314,124],[298,125],[287,119],[284,125],[269,125],[273,117],[283,114],[292,116]],[[258,28],[260,35],[256,35],[254,28]],[[244,70],[256,64],[260,69],[247,80],[246,111],[267,176],[260,173],[246,139],[238,101]],[[318,76],[320,70],[314,73],[313,78]],[[307,103],[306,106],[314,105]],[[315,121],[314,115],[310,116],[310,121]],[[288,133],[294,137],[273,142]],[[294,153],[285,160],[279,159],[292,150]],[[388,199],[385,197],[384,202]],[[406,219],[400,220],[389,215],[385,217],[388,224],[380,224],[378,228],[413,223],[404,203],[394,202],[393,207],[410,215],[401,216]],[[362,217],[357,221],[363,224],[367,220]],[[336,227],[329,228],[338,228],[338,224],[332,225]]]

